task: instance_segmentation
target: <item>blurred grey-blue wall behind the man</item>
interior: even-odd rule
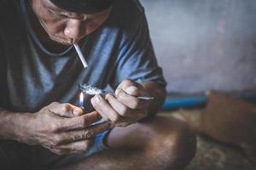
[[[141,0],[168,91],[256,89],[255,0]]]

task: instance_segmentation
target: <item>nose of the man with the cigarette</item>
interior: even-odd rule
[[[64,34],[68,38],[79,40],[84,37],[84,22],[82,20],[70,19],[64,30]]]

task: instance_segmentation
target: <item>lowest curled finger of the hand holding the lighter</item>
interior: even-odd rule
[[[81,152],[89,150],[94,143],[95,143],[95,139],[87,139],[87,140],[76,141],[71,144],[62,144],[58,146],[57,149],[68,154],[79,154]]]

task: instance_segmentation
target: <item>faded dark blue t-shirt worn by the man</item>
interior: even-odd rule
[[[0,2],[1,108],[33,112],[54,101],[78,105],[79,82],[114,89],[130,78],[166,86],[137,0],[117,0],[108,20],[79,42],[89,65],[86,69],[73,47],[61,54],[44,47],[25,3]],[[90,96],[85,96],[84,106],[91,110]]]

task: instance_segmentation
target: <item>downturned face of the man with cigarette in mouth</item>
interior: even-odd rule
[[[58,8],[49,0],[31,0],[32,10],[49,38],[63,45],[72,45],[95,31],[108,19],[110,8],[96,14],[77,14]]]

